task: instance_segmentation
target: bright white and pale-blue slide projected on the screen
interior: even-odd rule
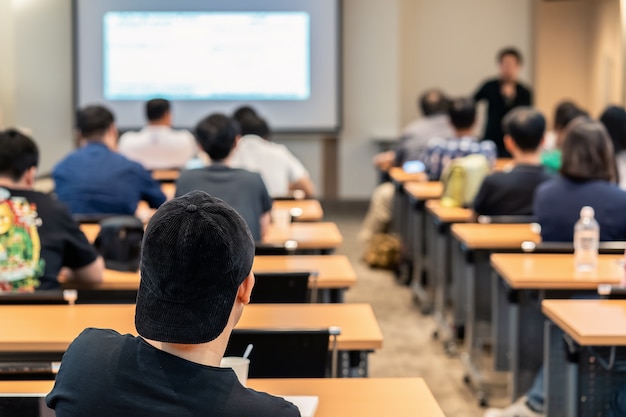
[[[305,12],[107,12],[107,100],[307,100]]]

